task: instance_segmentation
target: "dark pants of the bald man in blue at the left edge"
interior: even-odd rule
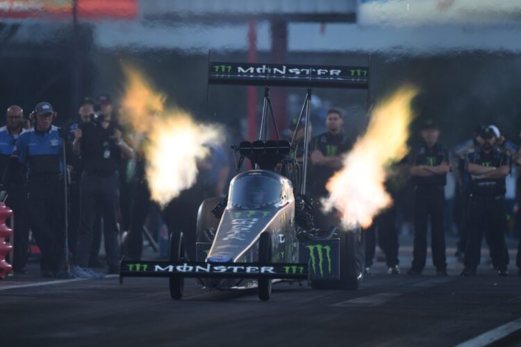
[[[13,210],[14,243],[13,243],[13,268],[15,271],[24,269],[29,248],[29,223],[27,220],[27,186],[10,185],[7,189],[8,197],[6,205]],[[6,222],[10,225],[10,221]]]

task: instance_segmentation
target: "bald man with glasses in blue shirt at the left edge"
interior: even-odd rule
[[[27,223],[27,187],[24,181],[24,171],[18,158],[13,154],[19,135],[27,124],[24,110],[17,105],[10,106],[6,112],[6,126],[0,128],[0,177],[2,190],[8,196],[6,205],[14,212],[15,234],[13,252],[13,271],[25,273],[28,255],[29,226]]]

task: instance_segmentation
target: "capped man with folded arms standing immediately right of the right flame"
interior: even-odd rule
[[[447,149],[438,144],[440,130],[427,120],[424,145],[413,150],[410,173],[415,184],[413,264],[408,275],[421,275],[427,260],[427,223],[431,220],[432,262],[438,276],[447,276],[445,257],[445,184],[450,171]]]

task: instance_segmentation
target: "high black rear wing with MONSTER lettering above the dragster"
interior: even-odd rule
[[[369,89],[369,67],[209,62],[208,84]]]

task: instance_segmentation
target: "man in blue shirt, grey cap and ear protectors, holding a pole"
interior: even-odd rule
[[[38,103],[32,115],[34,127],[16,144],[18,160],[28,173],[29,226],[42,251],[42,275],[59,276],[66,249],[64,146],[67,158],[74,153],[67,134],[52,125],[56,112],[50,103]]]

